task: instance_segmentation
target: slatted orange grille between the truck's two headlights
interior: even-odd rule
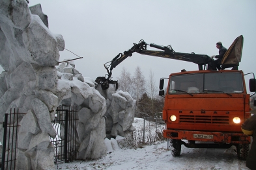
[[[180,115],[180,123],[229,124],[227,115]]]

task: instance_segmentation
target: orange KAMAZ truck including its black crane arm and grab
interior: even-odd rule
[[[193,62],[197,71],[173,73],[169,76],[167,91],[164,79],[160,79],[159,95],[165,96],[162,119],[166,128],[164,137],[170,139],[171,154],[180,155],[181,145],[186,147],[228,148],[236,146],[238,158],[245,159],[249,152],[250,138],[242,133],[242,123],[250,117],[249,94],[246,91],[244,73],[238,71],[242,57],[243,36],[238,36],[221,60],[221,70],[213,70],[213,59],[208,55],[175,52],[171,45],[162,46],[140,40],[131,49],[119,53],[104,64],[107,77],[97,77],[95,82],[102,90],[115,84],[112,70],[136,52]],[[147,46],[160,49],[148,50]],[[233,67],[231,70],[226,70]],[[256,83],[249,79],[250,91],[255,92]]]

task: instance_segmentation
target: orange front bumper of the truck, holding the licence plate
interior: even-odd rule
[[[191,141],[214,141],[220,143],[250,143],[249,136],[233,132],[203,132],[188,130],[164,130],[164,138]]]

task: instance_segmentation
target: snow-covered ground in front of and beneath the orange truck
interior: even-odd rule
[[[135,118],[134,127],[143,127],[143,119]],[[146,121],[146,127],[149,122]],[[152,131],[155,125],[150,123]],[[179,157],[167,150],[166,141],[158,141],[137,149],[117,149],[98,160],[57,164],[56,169],[245,169],[246,162],[238,160],[236,148],[189,149],[182,145]]]

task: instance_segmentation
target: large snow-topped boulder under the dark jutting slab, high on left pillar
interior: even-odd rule
[[[39,16],[31,16],[31,23],[22,34],[25,48],[30,53],[24,56],[24,60],[39,66],[56,66],[59,62],[59,42]],[[47,41],[42,41],[42,38]]]

